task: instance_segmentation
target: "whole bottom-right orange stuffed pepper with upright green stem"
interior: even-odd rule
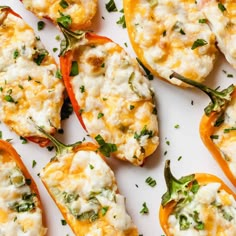
[[[171,173],[169,160],[166,161],[164,175],[167,192],[162,196],[159,220],[166,236],[175,235],[175,233],[173,233],[173,226],[171,225],[173,222],[173,220],[170,220],[171,216],[174,216],[176,221],[178,220],[178,227],[182,232],[186,232],[190,227],[194,228],[194,235],[201,230],[206,230],[207,232],[204,232],[206,235],[216,235],[219,232],[226,232],[226,229],[229,228],[229,226],[226,226],[225,230],[223,228],[221,229],[221,224],[223,223],[222,221],[217,221],[217,217],[222,217],[222,219],[229,222],[232,220],[231,217],[236,217],[235,213],[233,216],[229,215],[223,208],[225,205],[227,207],[235,206],[236,195],[221,179],[215,175],[206,173],[191,174],[176,179]],[[197,194],[199,191],[202,191],[202,188],[211,184],[220,185],[214,192],[214,194],[219,194],[218,197],[220,200],[215,200],[217,199],[216,196],[212,196],[211,192],[206,191],[207,195],[204,195],[203,198],[206,198],[207,200],[204,202]],[[213,202],[208,202],[209,196],[212,197]],[[232,196],[233,199],[229,200],[229,196]],[[191,206],[191,203],[196,198],[200,199],[200,202],[194,203]],[[220,202],[225,205],[220,206]],[[202,211],[198,204],[203,204]],[[183,209],[185,208],[188,210],[183,212]],[[216,215],[218,213],[220,215]],[[214,223],[216,224],[215,228],[213,226]]]

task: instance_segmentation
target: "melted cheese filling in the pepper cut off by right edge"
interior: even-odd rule
[[[225,164],[236,178],[236,98],[233,97],[224,114],[224,122],[215,129],[213,142],[221,151]]]

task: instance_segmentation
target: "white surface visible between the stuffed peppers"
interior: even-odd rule
[[[116,23],[122,13],[108,13],[105,9],[105,2],[108,2],[108,0],[99,1],[99,10],[94,19],[95,24],[91,28],[97,34],[110,37],[135,57],[126,29]],[[35,29],[36,35],[40,36],[46,48],[58,61],[57,53],[52,51],[54,47],[59,48],[59,42],[55,39],[55,36],[60,33],[55,26],[44,20],[46,27],[38,32],[37,22],[39,19],[26,11],[19,0],[0,0],[0,5],[8,5],[19,13]],[[117,0],[116,5],[119,10],[122,9],[122,1]],[[128,47],[125,46],[125,43]],[[223,70],[233,74],[234,77],[228,78]],[[212,88],[219,85],[221,88],[225,88],[235,83],[235,78],[236,71],[220,55],[214,71],[207,78],[206,84]],[[196,172],[208,172],[217,175],[229,187],[235,189],[211,157],[199,136],[199,122],[203,109],[209,102],[208,97],[196,89],[180,89],[158,79],[153,80],[152,84],[157,99],[160,146],[155,154],[147,159],[143,167],[134,167],[129,163],[118,160],[108,160],[115,172],[120,192],[126,196],[128,211],[137,225],[139,233],[144,236],[160,236],[163,234],[159,224],[158,212],[161,196],[166,191],[163,176],[165,160],[171,160],[172,172],[176,177]],[[193,105],[191,104],[192,101]],[[179,125],[178,129],[175,128],[176,124]],[[62,123],[62,128],[64,134],[59,135],[58,138],[65,143],[72,143],[86,137],[86,133],[74,114]],[[53,157],[54,152],[49,152],[46,148],[40,148],[33,143],[22,144],[19,137],[9,131],[3,123],[0,124],[0,130],[3,132],[3,139],[13,138],[11,143],[21,155],[38,185],[46,213],[48,236],[73,235],[69,226],[61,224],[63,217],[37,176],[40,169]],[[167,141],[169,141],[169,145]],[[166,155],[164,155],[165,152],[167,152]],[[178,161],[180,156],[182,158]],[[37,162],[34,168],[32,168],[33,160]],[[145,179],[149,176],[157,181],[154,188],[145,183]],[[140,214],[144,202],[149,208],[149,214],[147,215]]]

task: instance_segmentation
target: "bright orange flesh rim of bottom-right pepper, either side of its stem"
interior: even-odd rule
[[[215,183],[215,182],[220,183],[221,184],[220,189],[225,190],[227,193],[231,194],[236,200],[236,194],[220,178],[218,178],[215,175],[206,174],[206,173],[197,173],[195,174],[195,180],[198,181],[198,184],[200,186],[204,184]],[[159,209],[160,225],[163,231],[165,232],[166,236],[173,236],[169,231],[168,218],[173,212],[176,204],[177,204],[176,202],[172,201],[168,203],[165,207],[160,206],[160,209]]]

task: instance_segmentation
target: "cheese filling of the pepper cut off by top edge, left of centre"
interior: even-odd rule
[[[62,15],[70,16],[76,28],[90,25],[97,10],[97,0],[23,0],[23,4],[37,16],[49,17],[55,23]]]

